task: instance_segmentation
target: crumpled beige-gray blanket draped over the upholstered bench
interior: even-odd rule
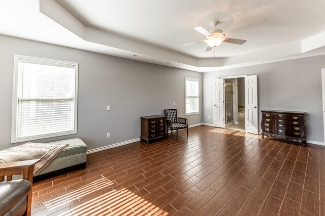
[[[25,143],[0,151],[0,163],[22,160],[41,159],[35,165],[34,176],[38,175],[60,151],[68,144],[57,143]]]

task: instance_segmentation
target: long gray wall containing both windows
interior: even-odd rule
[[[79,63],[78,134],[35,142],[78,137],[91,150],[139,138],[140,116],[177,108],[185,117],[184,77],[200,79],[201,113],[186,117],[202,122],[202,73],[0,35],[0,150],[20,144],[11,144],[14,54]]]

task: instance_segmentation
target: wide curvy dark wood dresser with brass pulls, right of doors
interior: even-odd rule
[[[306,146],[305,112],[261,110],[262,138],[279,137],[302,142]]]

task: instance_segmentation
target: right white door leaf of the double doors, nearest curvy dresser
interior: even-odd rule
[[[245,76],[245,131],[258,134],[257,75]]]

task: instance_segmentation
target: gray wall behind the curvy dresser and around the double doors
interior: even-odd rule
[[[305,111],[307,139],[323,142],[321,68],[325,55],[204,73],[203,122],[213,123],[213,79],[257,74],[258,110]]]

